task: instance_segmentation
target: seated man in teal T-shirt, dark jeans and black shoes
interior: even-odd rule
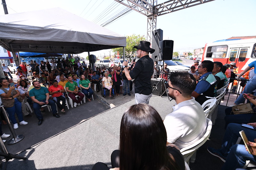
[[[38,125],[41,125],[44,121],[43,115],[40,111],[40,108],[43,105],[50,105],[52,108],[52,113],[54,117],[59,118],[60,115],[57,114],[56,105],[53,100],[49,99],[49,91],[46,87],[42,87],[38,81],[32,82],[34,88],[29,91],[29,96],[33,100],[33,109],[37,116]]]

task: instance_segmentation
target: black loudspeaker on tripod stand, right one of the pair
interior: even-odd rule
[[[173,41],[163,40],[159,42],[160,54],[158,60],[172,60]]]

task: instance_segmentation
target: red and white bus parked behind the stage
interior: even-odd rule
[[[202,61],[219,61],[223,65],[235,62],[238,74],[249,63],[256,60],[256,38],[250,39],[226,39],[205,44]]]

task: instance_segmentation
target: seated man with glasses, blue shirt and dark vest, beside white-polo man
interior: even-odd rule
[[[212,75],[214,64],[210,60],[204,60],[198,66],[198,73],[202,76],[198,79],[192,97],[202,105],[206,100],[217,96],[217,80]]]

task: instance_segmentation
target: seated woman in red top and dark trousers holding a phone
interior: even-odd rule
[[[62,113],[65,113],[66,98],[63,95],[65,90],[61,85],[58,85],[57,80],[53,80],[53,85],[49,87],[49,94],[52,95],[53,100],[57,103],[57,106],[61,109]],[[61,102],[62,101],[62,104]]]

